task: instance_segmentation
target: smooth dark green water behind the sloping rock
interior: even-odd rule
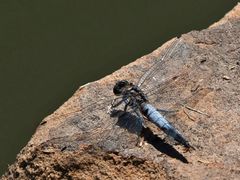
[[[208,27],[236,3],[1,0],[0,174],[80,85]]]

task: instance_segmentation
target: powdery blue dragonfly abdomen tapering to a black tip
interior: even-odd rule
[[[171,136],[174,140],[189,148],[190,145],[187,140],[175,129],[152,105],[142,104],[142,112],[149,121],[154,123],[162,129],[167,135]]]

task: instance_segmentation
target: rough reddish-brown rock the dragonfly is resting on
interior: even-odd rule
[[[195,150],[165,140],[151,123],[138,147],[136,116],[106,113],[115,81],[137,82],[169,41],[80,87],[42,121],[2,179],[240,179],[240,4],[180,40],[159,67],[157,81],[148,80],[143,90],[153,89],[148,95],[156,107],[178,110],[169,121]]]

